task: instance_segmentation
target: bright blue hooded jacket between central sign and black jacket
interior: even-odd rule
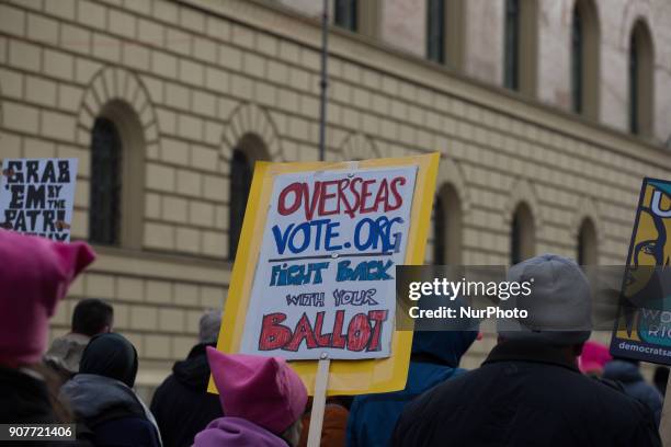
[[[457,368],[477,332],[416,332],[402,391],[357,396],[348,419],[348,446],[388,446],[394,426],[412,399],[464,373]]]

